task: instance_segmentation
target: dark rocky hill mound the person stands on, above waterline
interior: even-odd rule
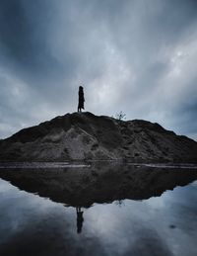
[[[0,161],[89,159],[197,162],[197,142],[158,124],[89,112],[56,117],[0,141]]]

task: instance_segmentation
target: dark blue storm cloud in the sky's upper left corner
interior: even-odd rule
[[[4,53],[13,61],[17,71],[21,69],[25,77],[32,76],[32,79],[35,75],[40,79],[63,72],[63,66],[50,54],[47,44],[48,20],[53,15],[48,8],[46,1],[11,0],[0,3]],[[72,70],[72,61],[69,62],[64,71]]]

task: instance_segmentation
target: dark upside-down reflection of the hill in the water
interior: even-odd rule
[[[115,200],[143,200],[197,179],[195,169],[99,163],[90,168],[1,169],[0,177],[21,190],[73,207]]]

